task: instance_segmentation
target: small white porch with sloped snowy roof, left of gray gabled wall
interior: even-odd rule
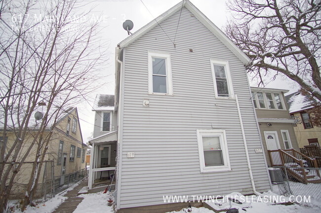
[[[88,188],[114,183],[116,180],[117,131],[93,138],[89,144],[92,148]]]

